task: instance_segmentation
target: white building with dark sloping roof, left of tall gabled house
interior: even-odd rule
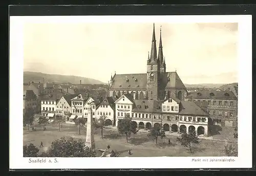
[[[115,112],[115,101],[117,99],[115,97],[106,97],[103,99],[103,101],[97,106],[96,109],[96,117],[97,119],[102,117],[105,117],[105,124],[106,125],[113,125],[115,126],[116,121],[116,112]]]

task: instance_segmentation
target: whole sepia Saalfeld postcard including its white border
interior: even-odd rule
[[[11,17],[10,80],[19,84],[10,101],[20,104],[10,107],[10,138],[20,144],[10,147],[24,161],[13,165],[251,161],[251,116],[242,112],[251,49],[241,49],[251,45],[241,40],[251,17],[204,17]],[[123,168],[104,166],[113,167]]]

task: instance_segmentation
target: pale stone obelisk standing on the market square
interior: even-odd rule
[[[89,104],[89,114],[87,118],[87,130],[86,130],[86,146],[89,147],[92,151],[95,151],[95,142],[94,142],[94,133],[93,133],[93,110],[92,105],[95,105],[94,103]]]

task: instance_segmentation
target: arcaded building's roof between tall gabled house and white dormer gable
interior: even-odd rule
[[[134,100],[132,112],[161,113],[162,102],[157,100]]]

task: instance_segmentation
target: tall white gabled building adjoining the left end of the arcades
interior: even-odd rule
[[[134,100],[131,94],[124,94],[115,101],[116,126],[118,124],[118,120],[123,119],[126,116],[126,114],[129,114],[130,117],[132,117],[131,114],[132,114],[133,104],[134,104]]]

